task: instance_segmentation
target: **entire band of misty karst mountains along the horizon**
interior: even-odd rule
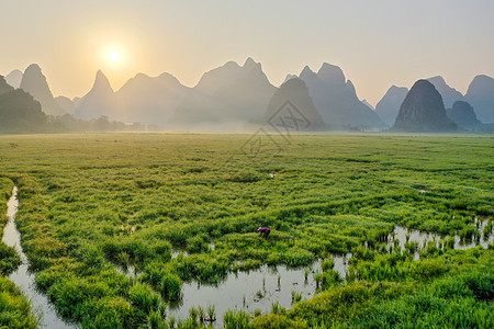
[[[475,77],[465,95],[441,77],[423,80],[430,88],[420,91],[415,84],[409,92],[393,86],[375,110],[360,101],[343,70],[329,64],[317,73],[306,66],[300,76],[288,76],[279,88],[251,58],[243,66],[228,61],[207,71],[194,88],[182,86],[169,73],[154,78],[138,73],[115,92],[99,70],[91,90],[77,100],[55,99],[37,65],[27,67],[19,89],[7,82],[15,84],[13,77],[7,78],[0,77],[3,133],[245,133],[269,125],[270,116],[280,114],[285,102],[310,121],[303,129],[295,125],[293,132],[485,133],[494,127],[494,79],[486,76]],[[291,124],[278,123],[284,128]]]

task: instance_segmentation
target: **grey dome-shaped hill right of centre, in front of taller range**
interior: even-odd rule
[[[289,79],[274,92],[262,124],[280,126],[280,129],[290,126],[291,133],[326,129],[323,117],[308,95],[305,82],[299,78]]]

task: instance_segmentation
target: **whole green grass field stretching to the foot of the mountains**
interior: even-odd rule
[[[383,248],[395,225],[470,239],[484,234],[479,217],[492,232],[492,136],[276,136],[260,149],[249,138],[0,136],[0,180],[20,189],[24,252],[58,313],[83,328],[169,328],[182,281],[352,252],[348,282],[327,269],[313,299],[254,319],[232,311],[225,326],[493,327],[492,246],[430,247],[419,261],[413,246]],[[142,275],[115,269],[130,264]]]

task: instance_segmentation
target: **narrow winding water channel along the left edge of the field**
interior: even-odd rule
[[[21,247],[21,234],[15,227],[15,214],[18,213],[18,189],[14,188],[12,191],[12,197],[9,200],[7,216],[9,217],[9,223],[3,229],[2,241],[10,247],[14,247],[21,257],[22,264],[19,269],[13,272],[9,279],[15,283],[15,285],[22,291],[24,295],[31,302],[33,309],[36,315],[41,317],[40,328],[49,329],[61,329],[61,328],[76,328],[72,325],[68,325],[61,320],[53,305],[49,304],[48,298],[36,291],[34,274],[27,271],[29,261],[22,251]]]

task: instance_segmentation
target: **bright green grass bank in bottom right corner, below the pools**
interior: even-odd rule
[[[349,282],[285,313],[273,311],[256,318],[252,325],[255,328],[293,328],[293,324],[300,328],[492,328],[493,266],[490,250],[448,251],[434,260],[409,261],[400,280],[370,276]]]

